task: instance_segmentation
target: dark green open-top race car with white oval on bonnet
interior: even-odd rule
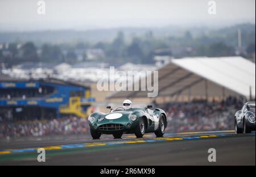
[[[156,137],[163,137],[167,127],[166,112],[162,109],[118,107],[110,109],[110,113],[94,112],[89,116],[90,134],[98,139],[101,134],[113,134],[114,138],[121,138],[123,133],[135,133],[142,138],[144,133],[155,133]]]

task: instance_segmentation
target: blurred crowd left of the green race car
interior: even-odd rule
[[[63,117],[60,119],[28,122],[0,122],[0,138],[25,137],[25,136],[49,136],[71,135],[88,133],[87,119],[77,117]]]

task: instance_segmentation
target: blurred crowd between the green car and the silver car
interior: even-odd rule
[[[229,97],[221,102],[192,100],[189,103],[163,105],[170,132],[234,129],[234,114],[242,108],[243,99]]]

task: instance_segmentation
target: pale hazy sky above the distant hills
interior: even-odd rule
[[[208,0],[1,0],[0,30],[91,29],[113,27],[225,26],[255,23],[255,0],[216,0],[217,14],[208,14]]]

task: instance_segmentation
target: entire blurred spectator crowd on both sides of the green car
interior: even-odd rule
[[[234,128],[234,114],[242,108],[244,102],[243,99],[229,97],[221,102],[192,100],[158,107],[167,112],[167,132],[224,130]],[[0,119],[0,138],[74,134],[89,134],[87,119],[74,116],[26,122]]]

